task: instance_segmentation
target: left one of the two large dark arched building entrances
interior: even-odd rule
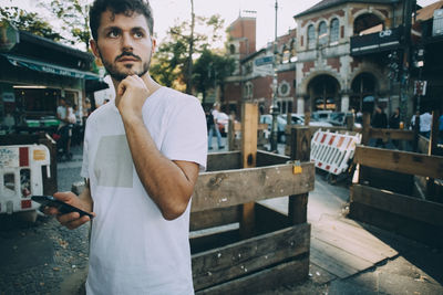
[[[308,84],[308,93],[311,98],[311,109],[337,110],[340,108],[339,82],[330,75],[319,75]]]

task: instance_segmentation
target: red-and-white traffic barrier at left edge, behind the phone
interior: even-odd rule
[[[31,197],[43,194],[42,168],[50,178],[50,164],[44,145],[0,146],[0,213],[38,209]]]

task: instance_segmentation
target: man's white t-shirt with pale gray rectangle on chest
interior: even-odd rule
[[[171,160],[206,166],[206,119],[199,102],[167,87],[145,102],[143,119]],[[194,294],[189,208],[167,221],[135,171],[114,101],[87,118],[81,175],[90,178],[92,222],[87,294]],[[152,167],[155,172],[155,167]]]

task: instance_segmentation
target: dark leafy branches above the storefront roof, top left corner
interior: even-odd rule
[[[52,27],[47,21],[39,18],[34,12],[27,12],[17,7],[0,7],[0,15],[21,31],[27,31],[53,41],[63,39],[58,32],[52,30]]]

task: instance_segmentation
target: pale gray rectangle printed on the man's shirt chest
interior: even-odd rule
[[[133,187],[133,161],[126,135],[103,136],[94,160],[97,186]]]

